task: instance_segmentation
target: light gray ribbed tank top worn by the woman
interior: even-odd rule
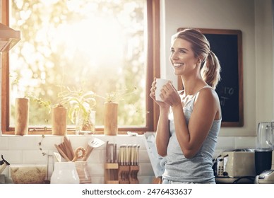
[[[203,88],[211,87],[205,86]],[[189,119],[193,111],[194,100],[197,93],[193,95],[191,100],[189,100],[183,108],[187,124],[189,124]],[[175,182],[215,183],[212,168],[213,152],[215,150],[218,133],[220,131],[220,125],[221,120],[214,120],[210,132],[208,133],[208,136],[203,142],[200,150],[196,153],[196,156],[188,159],[184,157],[184,153],[181,151],[181,147],[177,141],[177,136],[174,129],[174,117],[171,110],[169,112],[170,138],[167,146],[167,162],[165,163],[165,172],[162,177]]]

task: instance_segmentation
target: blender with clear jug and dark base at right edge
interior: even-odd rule
[[[256,174],[270,170],[273,151],[274,122],[259,122],[257,129],[255,167]]]

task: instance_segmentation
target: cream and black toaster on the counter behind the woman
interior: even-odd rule
[[[256,176],[254,149],[224,151],[216,158],[217,183],[253,183]]]

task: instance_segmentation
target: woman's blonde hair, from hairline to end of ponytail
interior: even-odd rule
[[[184,29],[172,36],[172,40],[181,38],[191,42],[191,48],[195,57],[203,57],[201,60],[201,76],[203,80],[215,89],[220,81],[221,66],[218,57],[210,50],[210,44],[198,29]]]

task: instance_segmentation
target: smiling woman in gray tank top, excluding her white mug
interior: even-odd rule
[[[172,36],[170,62],[184,90],[178,92],[169,82],[158,102],[155,81],[150,89],[160,106],[157,152],[167,158],[162,183],[215,183],[212,159],[222,118],[215,92],[218,58],[199,30],[186,29]]]

